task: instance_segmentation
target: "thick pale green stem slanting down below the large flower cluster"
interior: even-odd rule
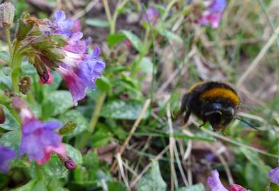
[[[93,112],[91,120],[90,120],[89,128],[86,130],[86,132],[84,132],[84,135],[82,136],[82,139],[80,140],[80,145],[79,145],[80,149],[84,148],[84,146],[88,142],[90,135],[95,130],[96,124],[97,124],[99,116],[100,116],[100,109],[102,108],[106,95],[107,94],[105,93],[105,91],[100,91],[100,96],[99,96],[98,100],[96,100],[96,105],[95,105],[94,112]]]

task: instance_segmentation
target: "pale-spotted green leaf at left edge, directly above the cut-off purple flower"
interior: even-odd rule
[[[9,131],[2,135],[0,138],[0,144],[8,148],[12,148],[14,151],[19,153],[21,137],[22,135],[20,130]]]

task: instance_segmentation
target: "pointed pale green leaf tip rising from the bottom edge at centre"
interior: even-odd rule
[[[153,160],[152,166],[142,176],[138,185],[138,191],[165,191],[167,184],[160,174],[160,167],[157,160]]]

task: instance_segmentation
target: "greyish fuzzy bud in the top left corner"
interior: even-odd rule
[[[9,28],[15,17],[15,7],[11,3],[2,3],[0,5],[0,22],[3,27]]]

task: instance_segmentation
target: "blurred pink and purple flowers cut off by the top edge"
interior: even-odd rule
[[[226,0],[204,1],[206,10],[203,11],[197,22],[202,25],[210,24],[213,29],[216,29],[219,26],[226,4]]]

